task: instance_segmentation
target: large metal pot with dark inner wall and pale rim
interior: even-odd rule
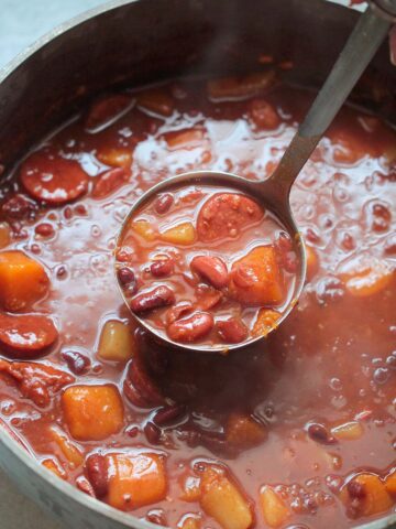
[[[54,30],[0,73],[0,164],[7,173],[37,139],[110,85],[257,69],[258,55],[266,53],[298,66],[286,74],[292,80],[318,86],[355,19],[355,12],[323,0],[108,3]],[[396,68],[384,46],[356,101],[396,125],[395,94]],[[0,465],[68,528],[157,527],[62,482],[3,432]],[[393,523],[395,515],[364,528]]]

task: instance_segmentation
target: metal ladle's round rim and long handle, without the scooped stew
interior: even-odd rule
[[[277,169],[267,180],[263,182],[252,182],[234,174],[216,171],[194,171],[170,177],[154,185],[134,203],[122,225],[118,237],[118,246],[130,219],[143,204],[154,198],[158,193],[168,192],[172,188],[178,188],[185,185],[215,184],[216,186],[224,185],[228,188],[235,188],[246,195],[251,195],[256,202],[262,204],[280,220],[285,229],[297,242],[296,250],[298,252],[297,257],[299,258],[299,269],[297,270],[293,295],[289,298],[290,301],[283,311],[276,326],[282,324],[296,305],[296,301],[301,293],[306,278],[306,251],[289,204],[292,185],[358,79],[373,58],[381,43],[386,37],[395,17],[396,0],[377,0],[360,17],[305,120],[299,126],[298,131],[286,149]],[[121,285],[120,289],[124,296]],[[125,298],[124,301],[128,304]],[[144,319],[134,313],[132,314],[141,325],[146,327],[163,342],[173,347],[183,349],[193,349],[202,353],[221,349],[231,350],[262,339],[262,337],[253,337],[240,344],[230,344],[229,346],[180,344],[173,342],[165,335],[161,334]]]

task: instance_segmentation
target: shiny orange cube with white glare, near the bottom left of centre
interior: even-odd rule
[[[152,453],[109,455],[108,501],[131,510],[165,499],[166,474],[163,457]]]

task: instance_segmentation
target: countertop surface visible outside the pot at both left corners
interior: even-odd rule
[[[100,0],[0,0],[0,67],[55,25]],[[62,529],[0,472],[1,529]]]

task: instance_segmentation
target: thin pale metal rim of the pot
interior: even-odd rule
[[[84,22],[94,19],[102,13],[112,11],[118,8],[122,8],[123,6],[138,3],[140,1],[143,0],[110,0],[96,8],[84,11],[82,13],[77,14],[76,17],[73,17],[72,19],[56,25],[53,30],[38,37],[35,42],[33,42],[33,44],[22,50],[2,68],[0,68],[0,84],[2,84],[10,75],[12,75],[13,72],[18,69],[31,56],[33,56],[35,53],[37,53],[51,42],[55,41],[58,36],[67,33],[69,30],[73,30],[79,24],[82,24]],[[103,515],[110,520],[122,523],[124,527],[134,529],[168,529],[165,526],[158,526],[156,523],[152,523],[150,521],[138,518],[133,515],[133,512],[123,512],[121,510],[118,510],[110,505],[79,490],[77,487],[73,486],[68,482],[59,479],[59,477],[55,476],[52,472],[40,465],[37,460],[32,457],[32,455],[15,440],[13,440],[2,428],[0,428],[0,444],[4,445],[7,450],[12,452],[12,454],[18,457],[28,468],[30,468],[32,473],[36,474],[40,479],[43,479],[48,485],[56,488],[61,494],[65,494],[77,504],[80,504],[81,507],[88,506],[89,509],[96,511],[97,514]],[[10,477],[7,473],[6,475]],[[356,529],[385,529],[391,528],[391,526],[393,526],[394,523],[396,525],[396,514],[391,514],[386,517],[375,519],[367,523],[355,527]]]

